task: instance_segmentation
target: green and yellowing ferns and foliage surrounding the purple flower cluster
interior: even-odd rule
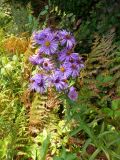
[[[0,1],[0,159],[120,159],[120,1]],[[85,67],[78,100],[29,90],[31,35],[51,27],[77,39]]]

